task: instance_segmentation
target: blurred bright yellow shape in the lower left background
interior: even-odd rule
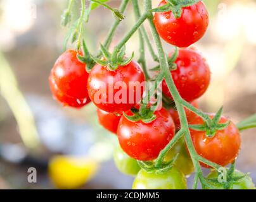
[[[98,163],[87,157],[56,156],[49,162],[49,177],[58,189],[76,189],[91,180]]]

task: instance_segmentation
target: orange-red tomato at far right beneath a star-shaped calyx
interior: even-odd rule
[[[210,117],[213,118],[214,115]],[[224,124],[228,121],[229,119],[222,116],[219,123]],[[201,117],[197,117],[190,124],[203,124],[203,120]],[[226,166],[232,163],[238,156],[241,137],[238,128],[236,128],[233,122],[224,130],[217,131],[213,138],[208,138],[205,132],[195,131],[193,129],[190,130],[190,133],[198,155],[211,162]],[[203,166],[208,167],[207,165]]]

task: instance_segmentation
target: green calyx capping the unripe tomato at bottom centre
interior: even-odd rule
[[[179,153],[172,158],[169,162],[161,163],[161,165],[157,166],[155,162],[143,162],[138,160],[138,164],[141,169],[145,170],[148,173],[155,173],[155,174],[163,174],[168,172],[174,166],[174,162],[176,162],[177,158],[179,157]]]

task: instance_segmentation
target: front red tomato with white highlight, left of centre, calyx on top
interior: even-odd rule
[[[115,71],[97,64],[89,74],[87,89],[99,109],[122,114],[140,102],[144,81],[143,71],[137,62],[131,61]]]

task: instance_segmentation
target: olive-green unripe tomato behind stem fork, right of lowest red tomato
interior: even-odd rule
[[[181,170],[184,175],[190,175],[192,172],[194,172],[194,165],[183,139],[174,145],[172,149],[167,153],[165,162],[172,160],[174,157],[176,157],[177,153],[179,153],[179,156],[174,162],[174,165],[176,165],[176,167]]]

